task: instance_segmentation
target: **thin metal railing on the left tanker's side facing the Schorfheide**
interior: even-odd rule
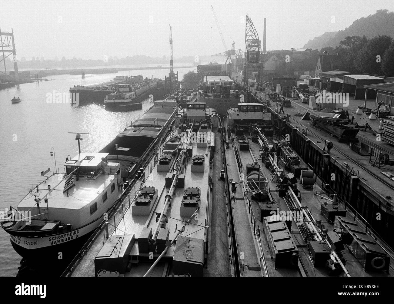
[[[86,241],[82,249],[76,254],[74,259],[72,259],[71,263],[69,266],[63,271],[61,274],[61,277],[66,277],[69,276],[75,269],[75,267],[78,265],[80,260],[84,257],[84,255],[89,251],[93,243],[100,237],[100,235],[103,236],[103,245],[106,241],[106,228],[108,226],[108,235],[112,235],[113,232],[116,233],[117,229],[117,224],[121,222],[122,219],[124,219],[125,212],[130,209],[130,206],[135,200],[136,196],[138,195],[139,191],[141,191],[141,188],[145,184],[146,177],[151,174],[152,170],[154,169],[156,163],[158,162],[158,155],[162,154],[163,150],[163,143],[165,143],[167,140],[169,140],[171,137],[174,136],[175,130],[173,130],[166,138],[165,140],[162,140],[160,142],[160,149],[158,149],[158,152],[152,153],[150,158],[148,159],[149,165],[145,167],[145,170],[141,176],[134,180],[132,184],[130,184],[121,194],[121,196],[115,201],[114,205],[110,210],[107,212],[107,219],[104,219],[100,225],[95,229],[91,237]],[[159,154],[160,152],[160,154]],[[123,232],[123,231],[122,231]],[[124,233],[124,232],[123,232]]]

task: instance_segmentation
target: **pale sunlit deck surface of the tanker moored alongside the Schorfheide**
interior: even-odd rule
[[[180,216],[180,205],[182,202],[182,197],[184,194],[184,189],[187,187],[199,187],[201,189],[201,200],[199,205],[198,215],[194,216],[190,223],[185,226],[185,231],[182,232],[182,236],[190,236],[197,239],[203,239],[206,241],[207,235],[205,233],[206,229],[205,220],[206,220],[206,210],[207,206],[209,207],[210,191],[208,190],[208,176],[210,174],[209,168],[209,145],[205,148],[197,147],[197,143],[193,143],[193,152],[192,155],[195,154],[204,154],[204,172],[191,172],[191,158],[188,161],[188,165],[186,166],[185,178],[184,178],[184,187],[178,187],[175,189],[172,199],[171,199],[171,208],[167,212],[168,223],[166,224],[166,228],[169,229],[169,239],[174,239],[177,235],[177,229],[182,228],[184,221],[187,221],[189,218],[182,218]],[[208,155],[208,156],[207,156]],[[174,164],[173,164],[174,165]],[[116,224],[112,226],[110,229],[110,235],[123,235],[123,234],[134,234],[136,238],[136,243],[134,244],[130,255],[134,257],[140,256],[138,252],[138,237],[144,227],[152,228],[154,230],[156,226],[156,213],[161,213],[164,203],[165,196],[168,194],[168,188],[165,187],[165,177],[168,171],[158,172],[157,164],[148,165],[149,175],[147,174],[145,183],[143,185],[153,186],[158,191],[158,198],[152,207],[152,210],[149,215],[132,215],[132,209],[129,207],[132,204],[132,200],[130,200],[130,205],[127,205],[124,209],[120,208],[117,213],[118,217],[116,220]],[[172,171],[172,168],[170,172]],[[127,200],[127,197],[125,201]],[[209,209],[208,209],[209,210]],[[115,216],[116,217],[116,216]],[[76,265],[74,271],[72,272],[72,276],[95,276],[95,267],[94,267],[94,258],[99,253],[103,240],[105,239],[105,234],[102,232],[92,247],[89,249],[87,255],[82,258],[80,263]],[[172,260],[173,247],[169,248],[167,253],[163,258],[163,262],[158,263],[154,272],[151,273],[151,276],[162,276],[164,269],[167,269],[169,266],[167,263]],[[147,254],[141,254],[141,256],[148,256]],[[154,254],[154,258],[157,258],[158,254]],[[138,267],[132,267],[131,272],[125,274],[125,276],[143,276],[145,272],[149,269],[152,263],[139,261]],[[171,264],[171,263],[170,263]],[[141,265],[141,267],[139,266]]]

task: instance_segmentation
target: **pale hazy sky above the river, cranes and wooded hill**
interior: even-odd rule
[[[220,19],[227,48],[245,49],[245,15],[267,48],[301,48],[324,32],[344,30],[378,9],[394,10],[393,0],[0,0],[0,27],[14,30],[17,57],[169,55],[169,24],[174,57],[224,52],[211,5]],[[335,22],[331,22],[335,17]],[[230,38],[231,37],[231,38]]]

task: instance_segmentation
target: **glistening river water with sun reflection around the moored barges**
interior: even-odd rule
[[[177,69],[179,79],[189,70],[197,72],[197,67]],[[82,135],[81,150],[98,152],[119,134],[134,118],[139,117],[151,106],[143,101],[143,109],[131,112],[109,112],[104,106],[91,104],[74,108],[70,104],[49,104],[49,93],[68,93],[74,85],[92,85],[112,80],[117,75],[143,75],[164,78],[168,70],[132,70],[117,74],[48,76],[47,82],[24,83],[16,87],[0,89],[0,210],[16,207],[20,200],[43,180],[40,172],[48,167],[53,171],[55,159],[50,156],[55,150],[56,165],[63,172],[67,155],[78,153],[75,134]],[[19,96],[22,102],[11,104],[11,99]],[[0,276],[16,276],[21,257],[10,243],[9,235],[0,229]]]

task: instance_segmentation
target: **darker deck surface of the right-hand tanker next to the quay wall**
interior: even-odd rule
[[[245,135],[247,135],[247,134],[245,134]],[[245,167],[246,164],[253,163],[254,162],[253,160],[257,159],[258,151],[260,150],[260,147],[258,146],[258,144],[252,142],[250,137],[248,138],[248,141],[249,141],[249,151],[246,151],[246,150],[239,150],[238,141],[235,140],[236,148],[238,149],[239,156],[242,160],[244,172],[246,170],[246,167]],[[254,159],[252,158],[252,154],[253,154]],[[233,179],[234,181],[236,181],[239,184],[239,185],[237,185],[237,189],[234,194],[234,196],[236,197],[236,207],[235,208],[242,208],[242,209],[246,208],[246,211],[247,211],[247,201],[243,199],[243,193],[244,193],[244,191],[246,191],[246,189],[243,188],[242,183],[240,182],[240,179],[239,179],[240,174],[238,171],[238,167],[236,165],[237,163],[236,163],[234,148],[232,148],[230,146],[230,148],[226,150],[226,156],[227,156],[228,163],[232,163],[232,164],[235,163],[235,165],[230,165],[228,168],[229,178]],[[281,168],[283,168],[283,167],[284,167],[284,163],[281,162]],[[272,197],[274,198],[275,202],[278,204],[279,208],[281,210],[288,211],[289,208],[286,205],[284,198],[279,197],[279,193],[277,191],[275,182],[271,182],[271,180],[272,180],[271,170],[266,169],[266,167],[264,165],[261,165],[261,171],[268,178],[269,187],[271,189],[270,193],[271,193]],[[286,171],[286,170],[285,170],[285,172],[289,173],[289,171]],[[297,181],[299,182],[299,178],[297,178]],[[325,194],[324,194],[324,191],[319,186],[319,184],[321,185],[322,183],[321,182],[319,183],[319,180],[317,180],[316,184],[314,184],[313,189],[304,189],[303,187],[301,187],[301,185],[299,185],[298,188],[301,192],[302,205],[309,208],[309,210],[311,211],[315,220],[322,220],[322,222],[324,222],[324,224],[325,224],[325,228],[328,230],[330,230],[330,229],[332,230],[333,223],[327,222],[325,217],[323,217],[323,215],[320,213],[320,206],[324,202],[324,199],[321,198],[320,196],[315,195],[315,193],[317,192],[319,195],[322,195],[322,196],[325,196]],[[329,199],[329,198],[327,198],[327,199]],[[239,206],[241,206],[241,207],[239,207]],[[274,276],[274,277],[275,276],[311,276],[311,277],[328,276],[326,268],[313,266],[312,261],[309,257],[307,244],[305,243],[303,237],[301,236],[295,222],[292,222],[292,231],[291,232],[292,232],[293,238],[296,240],[297,248],[299,250],[299,260],[300,260],[299,267],[298,267],[298,269],[297,268],[293,268],[293,269],[292,268],[277,268],[277,269],[275,269],[274,262],[272,261],[272,256],[268,250],[268,241],[266,239],[266,235],[263,232],[263,224],[260,221],[260,210],[259,210],[258,204],[257,204],[257,202],[252,201],[251,206],[253,208],[253,213],[256,215],[256,217],[255,217],[256,224],[258,224],[258,226],[260,226],[261,247],[263,249],[264,260],[266,261],[266,265],[267,265],[266,276]],[[344,206],[342,206],[342,207],[344,207]],[[245,212],[245,210],[243,210],[243,212]],[[353,220],[353,218],[354,218],[353,214],[349,210],[346,213],[346,218],[350,219],[350,220]],[[250,216],[249,216],[249,219],[250,219]],[[246,238],[247,237],[247,230],[248,229],[252,230],[252,234],[249,233],[249,239],[250,239],[250,236],[253,236],[253,225],[251,224],[251,221],[249,220],[249,223],[248,223],[249,227],[246,227],[245,220],[246,220],[246,218],[245,219],[238,219],[238,222],[236,222],[236,231],[237,231],[237,234],[240,235],[240,237],[238,237],[237,241],[240,240],[241,238],[245,237],[242,239],[242,243],[246,243],[243,246],[243,249],[246,250],[245,264],[248,264],[248,263],[253,263],[256,260],[256,253],[257,253],[257,256],[259,256],[259,254],[258,254],[258,246],[253,248],[253,246],[252,246],[253,243],[251,241],[247,241],[247,238]],[[255,243],[258,242],[257,237],[254,237],[254,242]],[[242,245],[242,243],[241,243],[241,245]],[[348,270],[348,272],[351,276],[359,276],[359,277],[392,276],[391,274],[388,274],[387,272],[384,272],[384,271],[377,271],[377,272],[364,271],[362,264],[355,258],[355,256],[353,256],[353,254],[351,254],[351,252],[349,252],[349,250],[347,248],[345,248],[343,256],[346,260],[346,269]],[[393,266],[394,266],[394,261],[391,259],[390,260],[390,270],[393,269]],[[251,276],[251,275],[253,275],[253,272],[245,271],[245,275]],[[342,272],[342,274],[340,276],[344,276],[344,273]]]

